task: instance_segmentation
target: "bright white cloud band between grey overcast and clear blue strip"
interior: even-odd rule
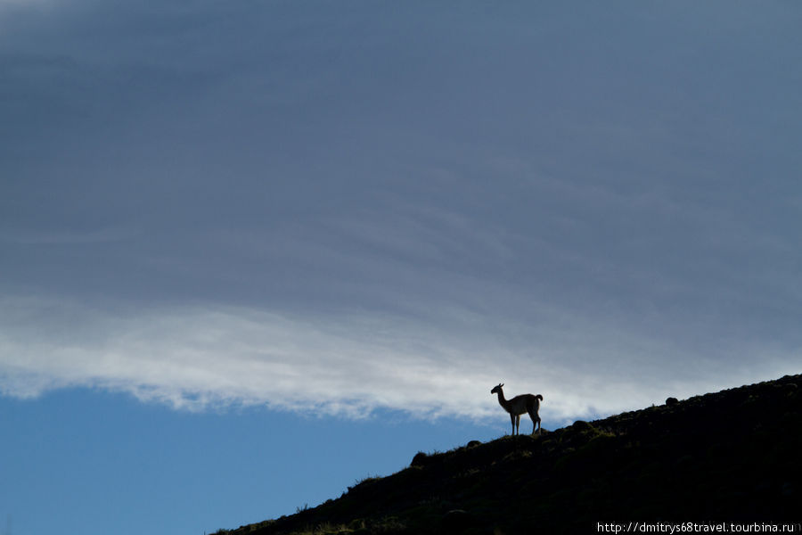
[[[504,381],[511,392],[542,393],[543,416],[556,424],[733,386],[758,368],[764,377],[793,371],[782,354],[734,370],[672,364],[669,348],[633,333],[611,340],[553,326],[523,345],[480,322],[449,331],[389,315],[93,309],[31,298],[6,299],[0,310],[0,391],[19,398],[88,387],[181,410],[265,405],[363,418],[393,409],[484,420],[497,416],[488,392]]]

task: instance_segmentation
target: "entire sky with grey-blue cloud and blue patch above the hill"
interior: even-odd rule
[[[435,4],[0,0],[0,535],[800,372],[802,5]]]

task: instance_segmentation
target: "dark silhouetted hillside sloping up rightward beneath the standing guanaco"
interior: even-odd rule
[[[598,523],[636,521],[799,523],[800,383],[802,375],[785,376],[540,437],[419,453],[405,470],[361,481],[340,498],[220,533],[510,535],[594,533]]]

